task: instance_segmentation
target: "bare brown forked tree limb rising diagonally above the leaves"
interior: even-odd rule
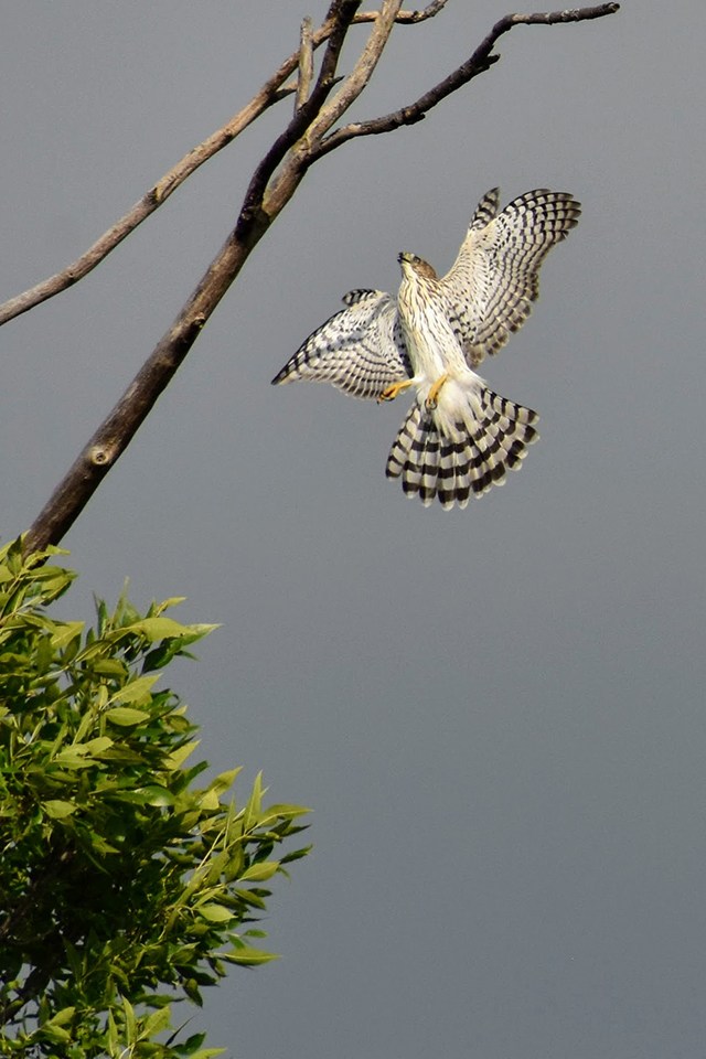
[[[428,110],[443,98],[457,92],[478,74],[489,69],[498,62],[500,56],[492,54],[493,49],[498,40],[513,26],[582,22],[612,14],[619,9],[618,3],[602,3],[598,7],[579,8],[570,11],[505,15],[504,19],[495,23],[467,63],[413,104],[392,115],[367,122],[344,126],[331,131],[367,85],[395,23],[404,21],[408,24],[415,24],[431,18],[443,8],[446,0],[436,0],[421,12],[402,12],[402,0],[382,0],[379,11],[360,13],[357,11],[360,2],[361,0],[333,0],[323,25],[310,38],[308,32],[304,32],[299,50],[280,66],[248,107],[240,111],[240,115],[236,116],[229,126],[225,127],[229,130],[227,133],[229,139],[224,142],[229,142],[237,135],[234,129],[237,128],[240,131],[278,98],[284,98],[285,94],[296,93],[297,82],[285,86],[286,93],[282,85],[299,67],[301,89],[297,96],[298,106],[295,115],[257,165],[233,232],[172,327],[161,339],[113,411],[83,449],[25,535],[24,550],[26,554],[43,549],[49,544],[57,544],[73,525],[107,472],[125,451],[140,425],[151,411],[159,395],[173,378],[196,341],[201,329],[238,276],[250,252],[290,201],[307,170],[314,161],[354,137],[392,131],[402,125],[420,120]],[[356,22],[372,22],[373,26],[352,72],[342,78],[336,73],[341,50],[351,25]],[[311,41],[310,44],[309,40]],[[314,81],[309,73],[306,53],[323,41],[327,42],[327,47],[319,67],[319,74]],[[310,90],[307,82],[313,82],[313,87]],[[333,92],[334,88],[335,92]],[[331,95],[332,93],[333,95]],[[223,138],[224,135],[223,129],[218,133],[214,133],[215,140],[218,140],[218,137]],[[197,151],[203,149],[204,152],[204,157],[197,164],[201,164],[205,157],[211,157],[207,153],[208,150],[211,150],[211,153],[215,152],[212,150],[214,137],[205,141],[206,145],[211,145],[210,148],[202,145],[202,148],[197,149]],[[221,143],[221,146],[224,146],[224,143]],[[220,149],[220,147],[216,149]],[[171,194],[178,183],[181,183],[185,175],[189,175],[184,168],[186,162],[188,159],[184,159],[179,167],[168,173],[146,196],[146,200],[152,196],[153,200],[161,202]],[[196,165],[193,165],[190,171],[193,172],[195,168]],[[148,212],[152,212],[153,208],[157,208],[159,202],[150,200],[150,203],[146,203],[146,200],[142,200],[143,210],[147,208]],[[148,208],[150,204],[151,208]],[[141,204],[138,203],[133,211],[140,206]],[[129,216],[130,214],[128,214]],[[145,213],[145,216],[147,216],[147,213]],[[119,222],[116,228],[125,222],[126,218],[122,218],[122,222]],[[132,227],[135,227],[135,224],[132,224]],[[125,238],[125,235],[128,234],[128,231],[132,231],[132,227],[122,231],[117,242]],[[111,233],[115,231],[111,229]],[[108,239],[109,236],[113,238],[111,233],[107,233],[104,240]],[[113,245],[117,245],[117,242]],[[96,247],[100,243],[101,240],[96,244]],[[88,255],[96,252],[96,247],[93,247]],[[108,247],[108,250],[110,248]],[[105,250],[101,256],[105,257],[108,250]],[[84,255],[85,257],[87,255]],[[100,257],[95,259],[81,275],[85,275],[100,259]],[[79,261],[83,260],[83,258],[79,259]],[[76,265],[78,264],[76,263]],[[81,278],[78,272],[76,275],[72,274],[72,278],[64,286],[75,282],[78,278]],[[46,282],[51,285],[56,279],[57,277],[54,277],[53,280]],[[34,288],[34,291],[38,289]],[[63,288],[60,287],[58,289]],[[57,291],[45,293],[44,298],[51,297],[51,293],[55,292]],[[20,298],[26,298],[33,293],[33,291],[29,291]],[[44,298],[35,299],[32,304],[36,304],[38,300],[44,300]],[[18,301],[18,299],[14,300]],[[25,311],[29,308],[31,308],[31,304],[28,303],[23,308],[17,309],[12,314],[17,315],[18,312]],[[9,319],[9,317],[6,315],[4,319]],[[2,320],[3,317],[0,314],[0,322]]]

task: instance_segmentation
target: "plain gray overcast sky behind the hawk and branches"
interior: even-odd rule
[[[0,297],[73,260],[324,10],[7,4]],[[400,28],[355,116],[414,99],[507,10]],[[421,125],[318,164],[65,542],[73,616],[129,575],[140,606],[183,595],[175,617],[223,622],[172,678],[204,757],[315,810],[265,924],[284,959],[192,1024],[237,1059],[706,1052],[705,34],[702,0],[517,28]],[[173,320],[282,120],[0,332],[4,539]],[[494,184],[584,204],[482,370],[542,440],[502,490],[425,510],[383,474],[404,397],[269,379],[346,290],[396,290],[400,249],[446,270]]]

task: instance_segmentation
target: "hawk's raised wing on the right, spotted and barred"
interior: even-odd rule
[[[441,280],[449,320],[471,367],[496,353],[532,312],[539,296],[539,267],[552,247],[578,224],[570,194],[537,188],[502,213],[498,189],[473,214],[451,270]]]

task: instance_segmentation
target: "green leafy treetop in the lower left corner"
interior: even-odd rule
[[[307,810],[264,809],[259,777],[224,801],[237,769],[193,787],[196,727],[156,671],[215,627],[125,593],[95,630],[50,618],[58,554],[0,550],[0,1055],[205,1059],[223,1049],[176,1042],[170,1004],[275,959],[242,928],[308,852],[272,858]]]

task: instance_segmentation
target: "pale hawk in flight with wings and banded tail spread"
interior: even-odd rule
[[[539,296],[539,267],[578,224],[580,203],[537,188],[498,213],[499,190],[473,214],[458,257],[439,279],[400,254],[397,298],[352,290],[295,353],[272,385],[309,378],[354,397],[415,402],[387,458],[387,478],[428,506],[466,507],[471,494],[502,485],[536,441],[535,411],[500,397],[473,371],[522,327]]]

